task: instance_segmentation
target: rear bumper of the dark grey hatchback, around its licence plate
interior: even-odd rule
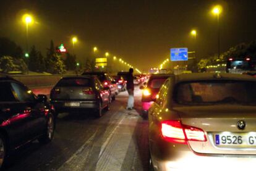
[[[79,106],[70,106],[70,102],[79,102]],[[51,101],[57,111],[64,111],[69,109],[96,109],[98,108],[98,101]]]

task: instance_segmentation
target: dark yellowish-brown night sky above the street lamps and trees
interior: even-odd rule
[[[256,1],[122,1],[122,0],[0,0],[0,36],[7,36],[25,49],[24,12],[35,16],[29,27],[29,44],[44,54],[49,41],[72,48],[79,60],[108,51],[140,70],[158,66],[169,56],[169,49],[188,47],[197,58],[217,51],[217,20],[210,12],[223,6],[220,15],[221,51],[242,42],[256,40]],[[197,40],[190,35],[197,29]],[[71,49],[70,49],[71,50]]]

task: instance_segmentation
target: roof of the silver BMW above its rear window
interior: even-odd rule
[[[241,80],[241,81],[256,81],[250,75],[242,75],[235,73],[190,73],[176,75],[176,83],[181,81],[196,81],[196,80]]]

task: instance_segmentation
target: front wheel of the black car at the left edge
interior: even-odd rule
[[[52,114],[49,114],[47,125],[46,125],[46,133],[41,138],[38,138],[40,143],[46,144],[53,140],[54,135],[55,122]]]

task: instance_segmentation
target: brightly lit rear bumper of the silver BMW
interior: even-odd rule
[[[161,141],[161,140],[160,140]],[[188,144],[150,143],[155,170],[252,170],[256,155],[196,154]]]

